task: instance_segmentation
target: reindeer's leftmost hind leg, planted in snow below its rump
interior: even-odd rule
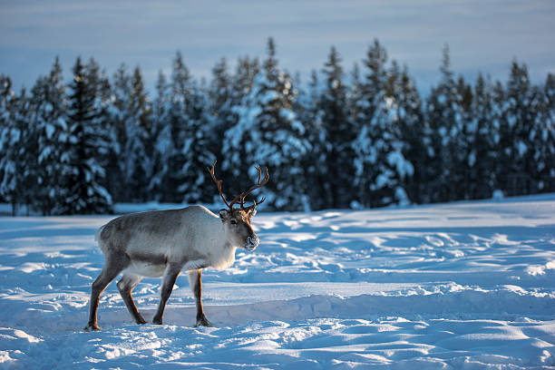
[[[127,268],[130,264],[130,259],[127,256],[116,256],[112,258],[106,258],[104,267],[96,280],[93,282],[93,287],[91,287],[91,308],[89,311],[89,322],[87,326],[84,327],[86,331],[100,330],[98,327],[98,322],[96,319],[96,313],[98,312],[98,302],[100,296],[104,289],[108,287],[108,284],[117,277],[122,269]]]

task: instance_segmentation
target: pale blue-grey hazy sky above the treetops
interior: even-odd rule
[[[30,88],[56,55],[66,79],[77,56],[94,57],[110,75],[139,65],[153,90],[178,51],[195,77],[209,78],[221,57],[231,66],[264,58],[272,36],[281,67],[306,80],[332,45],[349,72],[377,38],[420,90],[439,80],[444,44],[453,71],[471,81],[478,72],[506,81],[516,58],[543,83],[555,73],[554,15],[553,0],[0,0],[0,73]]]

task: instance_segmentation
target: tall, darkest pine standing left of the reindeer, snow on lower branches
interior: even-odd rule
[[[64,184],[68,191],[60,207],[63,213],[107,213],[112,196],[105,188],[103,164],[110,148],[108,129],[109,83],[91,59],[83,65],[78,57],[69,84],[68,157],[70,174]]]

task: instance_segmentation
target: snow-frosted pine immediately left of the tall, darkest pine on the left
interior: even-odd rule
[[[40,77],[32,90],[32,124],[37,135],[37,181],[34,209],[43,215],[60,214],[68,196],[63,186],[70,173],[67,147],[67,96],[62,65],[56,57],[51,72]]]

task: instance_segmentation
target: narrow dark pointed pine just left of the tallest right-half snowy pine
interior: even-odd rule
[[[325,90],[319,97],[319,108],[326,144],[320,149],[324,150],[326,160],[320,171],[321,176],[326,178],[326,207],[341,209],[349,207],[354,195],[352,176],[355,153],[352,142],[356,131],[349,120],[341,58],[334,46],[322,72]]]

